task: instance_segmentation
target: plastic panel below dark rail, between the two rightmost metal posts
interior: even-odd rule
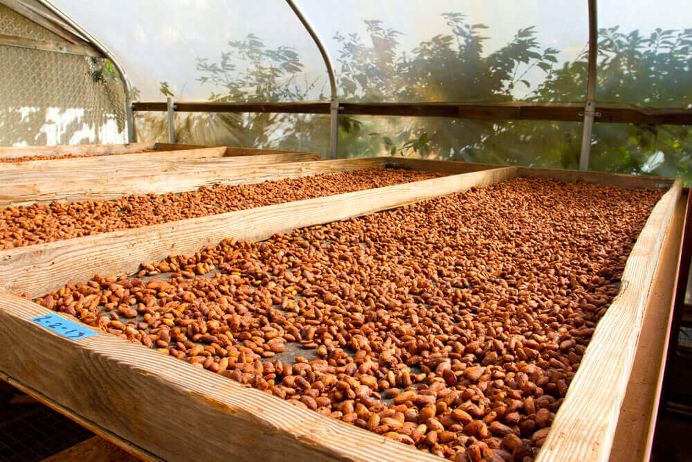
[[[577,168],[581,123],[340,116],[339,157],[422,157]]]

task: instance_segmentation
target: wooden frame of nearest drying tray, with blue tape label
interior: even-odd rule
[[[174,226],[156,225],[80,238],[71,240],[62,250],[52,248],[53,243],[16,261],[3,252],[3,266],[15,269],[3,269],[0,281],[10,290],[28,290],[37,296],[68,281],[86,281],[96,272],[132,273],[142,261],[190,253],[221,238],[262,240],[273,233],[518,176],[583,179],[626,188],[668,188],[632,249],[621,278],[621,292],[597,326],[538,456],[540,461],[603,461],[611,449],[622,447],[626,431],[623,433],[618,425],[619,416],[628,416],[623,400],[637,406],[641,414],[655,416],[655,405],[646,409],[651,406],[650,400],[632,398],[647,393],[632,391],[628,380],[635,354],[643,351],[654,357],[653,364],[660,365],[665,353],[659,346],[652,348],[651,339],[660,335],[646,334],[648,326],[642,329],[642,319],[646,314],[649,320],[651,310],[671,310],[664,278],[670,278],[679,256],[686,205],[686,197],[681,199],[681,180],[497,168],[185,220]],[[198,233],[203,236],[196,236]],[[664,241],[666,248],[662,251]],[[43,261],[21,265],[26,258]],[[2,376],[143,459],[256,460],[261,454],[262,459],[276,461],[439,461],[413,447],[295,407],[107,332],[71,341],[29,321],[50,312],[17,296],[0,295],[0,350],[7,352],[0,355]],[[657,326],[665,323],[663,318],[659,316]],[[640,332],[648,337],[648,343],[646,339],[644,345],[641,340],[637,343]],[[635,368],[634,373],[641,374],[641,370]],[[656,393],[655,383],[648,389],[648,393],[651,389]],[[650,425],[642,427],[651,430]]]

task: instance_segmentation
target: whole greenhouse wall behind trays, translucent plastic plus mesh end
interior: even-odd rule
[[[215,4],[213,10],[206,2],[167,7],[154,1],[141,8],[134,3],[101,8],[75,0],[56,2],[125,63],[134,100],[172,96],[272,103],[329,98],[324,64],[284,1],[256,1],[246,8],[226,2]],[[585,100],[586,1],[539,5],[522,0],[511,6],[503,3],[502,8],[495,8],[497,2],[480,6],[474,1],[443,1],[424,9],[404,1],[396,15],[372,2],[351,1],[339,6],[339,15],[329,21],[323,20],[320,2],[299,3],[325,39],[340,101]],[[664,1],[659,9],[668,12],[655,15],[644,14],[638,5],[617,15],[617,8],[601,3],[597,2],[597,102],[690,109],[692,29],[673,12],[677,3]],[[273,27],[278,17],[285,19],[280,34]],[[556,28],[556,17],[569,21]],[[183,18],[184,28],[177,25]],[[21,23],[21,17],[12,21]],[[209,28],[218,26],[213,34],[205,35],[204,21],[210,21]],[[3,19],[3,27],[7,22]],[[112,66],[44,51],[5,46],[0,51],[40,53],[37,62],[46,66],[29,69],[35,73],[30,80],[24,79],[26,69],[3,74],[8,80],[3,88],[12,89],[12,98],[30,101],[30,106],[20,107],[12,98],[2,99],[4,145],[123,141],[124,96]],[[60,66],[72,72],[53,72],[49,79],[46,71],[63,69]],[[26,98],[26,91],[15,91],[17,85],[26,89],[29,82],[44,87],[31,89],[33,100]],[[138,141],[167,141],[165,113],[136,112],[135,117]],[[185,143],[300,149],[322,152],[325,158],[329,154],[329,121],[318,114],[181,112],[175,126],[176,140]],[[394,154],[578,168],[583,123],[341,114],[338,127],[340,158]],[[689,181],[691,148],[689,125],[599,123],[597,116],[589,168]]]

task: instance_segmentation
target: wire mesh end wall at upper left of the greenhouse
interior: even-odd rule
[[[0,34],[66,43],[0,6]],[[0,145],[124,143],[125,92],[108,60],[0,45]]]

